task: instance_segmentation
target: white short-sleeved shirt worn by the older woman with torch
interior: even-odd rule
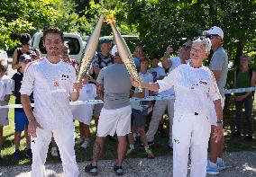
[[[208,115],[209,99],[215,101],[221,98],[215,77],[206,66],[194,68],[189,63],[180,65],[157,83],[160,85],[159,92],[174,86],[174,111],[177,112]]]

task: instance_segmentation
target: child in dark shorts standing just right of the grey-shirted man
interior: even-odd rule
[[[141,66],[141,72],[139,73],[140,78],[143,82],[146,83],[152,83],[153,82],[153,76],[151,73],[147,72],[148,69],[148,60],[146,58],[142,58],[140,60],[140,66]],[[144,96],[149,96],[150,91],[143,89],[142,93],[139,93],[138,89],[135,89],[133,93],[133,97],[143,98]],[[143,105],[142,102],[131,102],[132,104],[132,132],[129,133],[128,139],[130,144],[130,149],[127,151],[126,155],[132,155],[134,153],[134,139],[133,139],[133,133],[135,130],[141,135],[141,140],[143,143],[143,146],[145,148],[146,154],[148,158],[154,158],[154,155],[149,147],[148,140],[145,134],[144,129],[144,119],[143,119]],[[148,109],[145,109],[148,111]]]

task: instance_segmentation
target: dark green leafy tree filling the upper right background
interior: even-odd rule
[[[121,0],[120,5],[148,51],[162,53],[167,44],[179,45],[214,25],[224,30],[229,58],[255,50],[254,0]]]

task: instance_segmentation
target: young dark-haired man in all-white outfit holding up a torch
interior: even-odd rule
[[[69,100],[78,100],[82,84],[76,82],[76,71],[59,57],[63,32],[58,28],[43,31],[46,58],[33,61],[24,72],[20,90],[23,110],[29,119],[32,136],[32,177],[45,176],[44,163],[51,135],[59,146],[64,176],[77,177],[73,116]],[[33,92],[34,110],[29,95]]]

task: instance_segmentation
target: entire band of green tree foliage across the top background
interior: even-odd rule
[[[255,55],[255,0],[3,0],[0,48],[17,45],[22,31],[56,25],[63,31],[93,31],[101,13],[114,13],[122,34],[139,34],[148,54],[162,54],[168,44],[180,46],[211,26],[224,30],[224,48],[238,63],[242,53]],[[103,25],[102,36],[111,29]]]

